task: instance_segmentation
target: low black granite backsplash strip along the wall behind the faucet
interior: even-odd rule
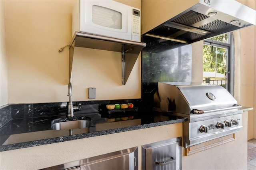
[[[81,110],[74,114],[98,112],[100,105],[133,103],[134,107],[141,106],[141,99],[105,100],[105,101],[81,101],[73,102],[73,105],[81,103]],[[59,103],[30,103],[10,104],[0,108],[0,128],[13,119],[28,119],[40,117],[55,117],[66,115],[67,102]]]

